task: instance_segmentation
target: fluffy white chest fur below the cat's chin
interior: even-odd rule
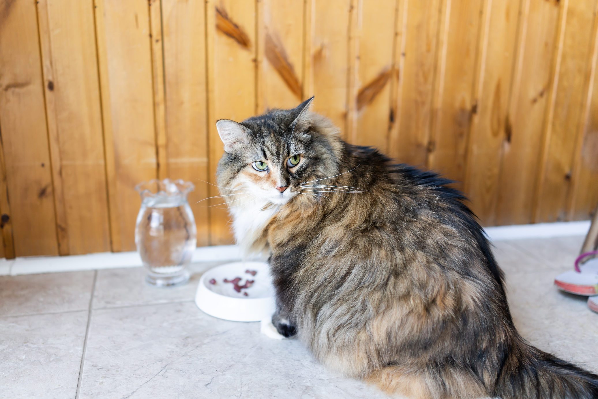
[[[276,207],[263,209],[263,204],[246,202],[230,208],[233,215],[234,239],[246,253],[260,239],[264,228],[276,213]]]

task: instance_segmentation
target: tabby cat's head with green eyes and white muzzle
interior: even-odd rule
[[[328,120],[309,111],[312,100],[241,123],[217,121],[225,151],[218,184],[264,206],[287,203],[299,194],[317,200],[305,184],[338,173],[340,139]]]

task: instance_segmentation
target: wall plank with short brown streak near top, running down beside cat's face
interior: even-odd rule
[[[208,54],[209,179],[215,183],[216,166],[223,145],[216,120],[242,121],[256,112],[255,65],[257,16],[255,2],[231,0],[206,2]],[[218,188],[210,185],[210,196]],[[221,200],[210,200],[210,243],[232,241],[230,216]]]

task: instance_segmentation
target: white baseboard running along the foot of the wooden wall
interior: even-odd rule
[[[565,236],[585,236],[590,221],[520,224],[516,226],[487,227],[490,240],[515,240]],[[193,253],[194,262],[240,260],[236,245],[202,246]],[[72,272],[75,270],[114,269],[141,266],[137,252],[102,252],[89,255],[19,257],[0,259],[0,276],[33,273]]]

